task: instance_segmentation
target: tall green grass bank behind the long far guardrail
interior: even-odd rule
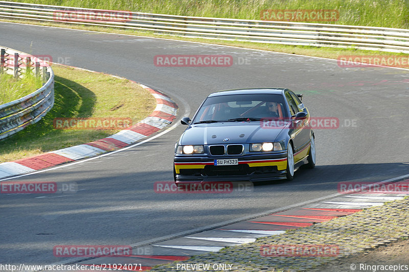
[[[409,28],[409,0],[18,0],[134,12],[260,20],[265,9],[336,9],[336,24]]]

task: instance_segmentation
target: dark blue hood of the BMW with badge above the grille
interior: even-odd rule
[[[193,125],[182,134],[179,144],[273,142],[284,128],[265,128],[257,121]],[[229,140],[223,141],[226,138]]]

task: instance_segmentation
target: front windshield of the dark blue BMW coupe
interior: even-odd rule
[[[231,94],[208,97],[192,123],[260,121],[288,117],[281,94]]]

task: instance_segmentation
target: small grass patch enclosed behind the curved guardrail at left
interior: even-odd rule
[[[41,78],[36,78],[32,73],[15,79],[12,75],[0,75],[0,105],[24,97],[41,87]]]

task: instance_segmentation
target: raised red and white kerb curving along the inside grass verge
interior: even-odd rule
[[[136,83],[136,82],[135,82]],[[169,125],[176,116],[177,105],[165,94],[147,89],[156,98],[156,108],[145,119],[107,138],[67,147],[30,158],[0,163],[0,178],[26,174],[58,164],[72,162],[120,149]]]

